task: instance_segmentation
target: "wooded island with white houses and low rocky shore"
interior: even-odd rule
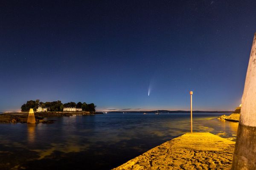
[[[74,115],[94,115],[96,114],[96,105],[86,102],[68,102],[62,103],[60,100],[54,102],[40,102],[29,100],[21,106],[21,112],[5,112],[0,114],[0,123],[26,123],[29,115],[29,109],[35,112],[36,123],[53,123],[55,120],[45,120],[45,117],[51,116],[74,116]]]

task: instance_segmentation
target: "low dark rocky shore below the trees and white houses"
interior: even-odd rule
[[[89,112],[35,112],[36,123],[54,123],[55,120],[44,120],[45,117],[51,116],[74,116],[90,115]],[[0,123],[26,123],[28,112],[7,112],[0,114]]]

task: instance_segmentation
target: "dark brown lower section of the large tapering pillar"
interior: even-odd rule
[[[232,170],[256,170],[256,127],[239,124]]]

